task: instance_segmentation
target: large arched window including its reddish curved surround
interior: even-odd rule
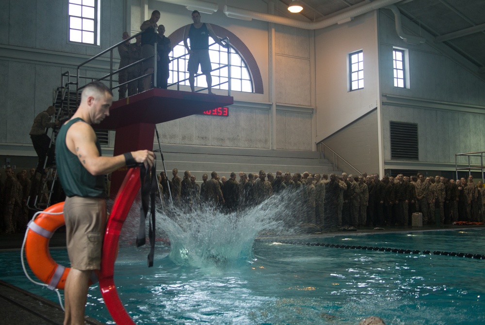
[[[211,24],[211,26],[217,36],[221,38],[227,37],[231,44],[231,91],[263,93],[263,82],[261,78],[261,73],[259,71],[258,63],[253,57],[249,48],[247,48],[242,40],[231,31],[228,31],[224,27],[214,24]],[[187,50],[183,46],[184,30],[185,26],[172,32],[170,36],[168,36],[168,38],[170,38],[172,42],[172,45],[176,44],[173,51],[170,53],[171,59],[187,54]],[[216,69],[211,72],[212,89],[227,90],[228,69],[227,67],[217,69],[227,64],[227,48],[221,47],[217,43],[214,43],[211,37],[209,37],[209,44],[212,44],[209,48],[212,69]],[[170,63],[170,77],[168,79],[169,84],[177,82],[178,80],[188,79],[188,61],[189,56],[185,55],[183,56],[183,58]],[[189,85],[189,80],[186,80],[181,84]],[[195,79],[195,87],[207,87],[206,77],[203,75],[197,77]]]

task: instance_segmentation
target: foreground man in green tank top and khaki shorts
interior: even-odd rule
[[[67,196],[64,218],[71,262],[65,283],[64,325],[84,324],[89,278],[101,266],[107,197],[104,174],[137,163],[152,166],[155,159],[148,150],[101,156],[91,124],[109,116],[112,103],[113,93],[108,87],[99,81],[89,83],[82,91],[81,105],[57,136],[56,163]]]

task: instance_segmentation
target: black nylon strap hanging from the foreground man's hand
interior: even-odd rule
[[[146,170],[145,166],[140,166],[141,198],[140,206],[140,227],[136,237],[136,247],[145,245],[145,219],[148,214],[148,204],[150,204],[151,217],[148,219],[148,238],[150,240],[150,253],[148,254],[148,267],[153,266],[153,256],[155,253],[155,192],[157,191],[157,168],[154,160],[151,170]]]

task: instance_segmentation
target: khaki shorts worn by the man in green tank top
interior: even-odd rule
[[[106,201],[74,196],[64,203],[67,253],[71,267],[98,270],[106,228]]]

